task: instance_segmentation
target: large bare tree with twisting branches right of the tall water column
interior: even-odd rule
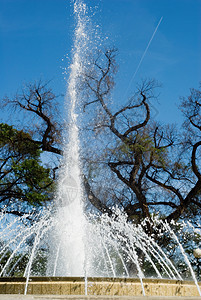
[[[121,182],[121,189],[127,187],[124,199],[127,199],[128,191],[134,194],[130,201],[121,200],[129,217],[150,218],[151,212],[160,211],[168,221],[178,219],[190,204],[200,206],[197,200],[200,172],[196,164],[200,139],[191,143],[189,161],[183,155],[188,143],[179,139],[174,126],[153,122],[150,101],[158,86],[154,80],[144,80],[129,103],[113,111],[109,97],[114,86],[115,53],[115,50],[106,51],[102,56],[99,53],[93,67],[84,74],[85,88],[91,92],[84,109],[96,107],[94,110],[101,118],[94,122],[93,130],[98,132],[102,128],[103,137],[110,134],[112,145],[108,147],[105,159]],[[192,92],[188,104],[183,102],[183,107],[187,108],[185,113],[189,124],[200,130],[200,94],[195,90]],[[192,100],[192,97],[196,99]]]

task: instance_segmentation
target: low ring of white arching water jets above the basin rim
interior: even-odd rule
[[[0,218],[3,219],[5,217],[6,211],[1,214]],[[19,222],[22,222],[23,218],[19,217],[17,222],[15,220],[9,224],[10,236],[7,234],[7,241],[5,241],[5,245],[0,252],[0,275],[4,277],[13,275],[14,270],[18,274],[18,265],[26,256],[26,268],[23,272],[27,278],[25,293],[30,276],[44,276],[45,274],[48,276],[84,276],[87,274],[90,277],[138,277],[141,281],[142,289],[143,278],[145,277],[183,279],[179,274],[178,267],[174,265],[172,259],[168,258],[169,250],[160,247],[154,238],[147,235],[142,227],[143,224],[141,226],[129,223],[125,213],[118,208],[113,209],[112,216],[105,214],[101,216],[91,215],[84,218],[87,237],[84,234],[84,230],[82,230],[83,236],[80,237],[79,235],[78,240],[76,240],[77,236],[73,236],[73,234],[77,234],[77,231],[70,228],[68,220],[66,220],[65,224],[61,224],[48,212],[43,215],[39,222],[34,223],[32,226],[24,226],[22,224],[20,226]],[[63,219],[61,220],[63,222]],[[181,256],[183,256],[186,269],[189,268],[188,274],[194,279],[200,292],[189,257],[185,253],[179,237],[170,225],[156,218],[152,221],[154,231],[158,232],[157,240],[159,243],[161,237],[163,238],[164,235],[168,237],[168,243],[174,247],[173,252],[177,252],[180,260]],[[16,227],[17,223],[19,223],[18,228]],[[59,234],[56,231],[58,224],[62,226],[60,228],[60,237],[58,237]],[[62,241],[62,238],[65,239],[69,235],[68,232],[66,236],[63,234],[64,226],[67,227],[67,230],[71,230],[70,245],[68,244],[69,240]],[[79,226],[76,227],[76,230],[78,229],[80,230]],[[1,230],[1,233],[4,230]],[[195,231],[193,225],[189,222],[182,225],[182,230],[183,233],[191,233],[192,236]],[[41,273],[44,262],[42,265],[40,263],[37,265],[37,259],[38,257],[41,259],[41,251],[42,249],[44,250],[45,245],[49,242],[50,232],[57,233],[55,237],[55,252],[50,251],[48,260],[50,259],[51,264],[47,266],[46,271],[44,270],[46,273]],[[66,245],[67,249],[64,255],[62,247]],[[80,248],[75,249],[75,247],[80,247],[80,245],[83,247],[84,253],[81,253],[81,259],[77,256],[77,253],[80,254]],[[74,253],[69,250],[70,246],[73,247]],[[4,262],[8,252],[10,252],[9,256]],[[178,257],[176,257],[176,261]],[[69,259],[72,262],[69,262]],[[79,261],[79,266],[76,265],[76,259]],[[20,274],[22,273],[19,272]]]

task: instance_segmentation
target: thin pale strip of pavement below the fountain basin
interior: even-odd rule
[[[65,296],[65,295],[9,295],[0,294],[0,300],[200,300],[201,297],[169,296]]]

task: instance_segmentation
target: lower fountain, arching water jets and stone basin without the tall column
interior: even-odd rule
[[[2,276],[0,293],[199,295],[199,284],[187,254],[169,224],[162,223],[157,218],[153,219],[153,228],[156,231],[160,228],[158,238],[163,238],[164,235],[170,236],[169,243],[174,245],[178,256],[183,255],[186,267],[189,267],[188,275],[190,274],[194,281],[183,280],[178,267],[174,265],[172,259],[169,259],[167,252],[145,233],[143,227],[146,223],[141,225],[128,223],[126,215],[121,210],[113,208],[113,211],[112,216],[92,215],[84,219],[90,237],[88,239],[85,237],[86,244],[80,236],[65,241],[67,247],[74,241],[76,245],[79,246],[81,243],[84,247],[81,249],[83,252],[80,253],[80,258],[77,257],[79,251],[75,249],[77,252],[74,255],[79,265],[75,263],[76,260],[73,260],[72,251],[66,252],[67,258],[65,253],[63,254],[61,247],[65,244],[61,246],[61,240],[57,240],[59,223],[51,217],[50,212],[43,213],[40,221],[32,226],[22,226],[21,222],[26,219],[26,216],[23,217],[24,220],[19,217],[10,221],[9,226],[2,227],[1,230],[1,237],[5,234],[5,245],[0,252]],[[1,224],[7,223],[6,212],[1,213],[0,219]],[[69,224],[67,223],[66,226],[68,229]],[[75,230],[77,232],[77,228]],[[180,230],[183,234],[188,233],[192,236],[195,232],[198,234],[190,223],[180,224]],[[50,251],[49,263],[46,270],[43,270],[45,261],[42,251],[47,245],[50,232],[57,234],[54,240],[56,247]],[[68,233],[66,235],[68,236]],[[62,232],[62,238],[64,237]],[[86,256],[83,253],[86,253]],[[22,274],[18,266],[25,257],[26,268]],[[72,259],[72,263],[64,260],[69,259],[68,257]],[[43,258],[42,262],[40,258]],[[13,274],[17,277],[11,277]],[[18,277],[20,275],[23,277]]]

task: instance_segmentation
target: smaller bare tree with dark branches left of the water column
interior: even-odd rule
[[[23,112],[26,124],[23,128],[31,134],[31,139],[38,148],[61,154],[62,118],[58,110],[57,96],[49,87],[48,82],[27,84],[13,99],[5,97],[3,106],[17,114]],[[28,114],[25,114],[27,112]]]

